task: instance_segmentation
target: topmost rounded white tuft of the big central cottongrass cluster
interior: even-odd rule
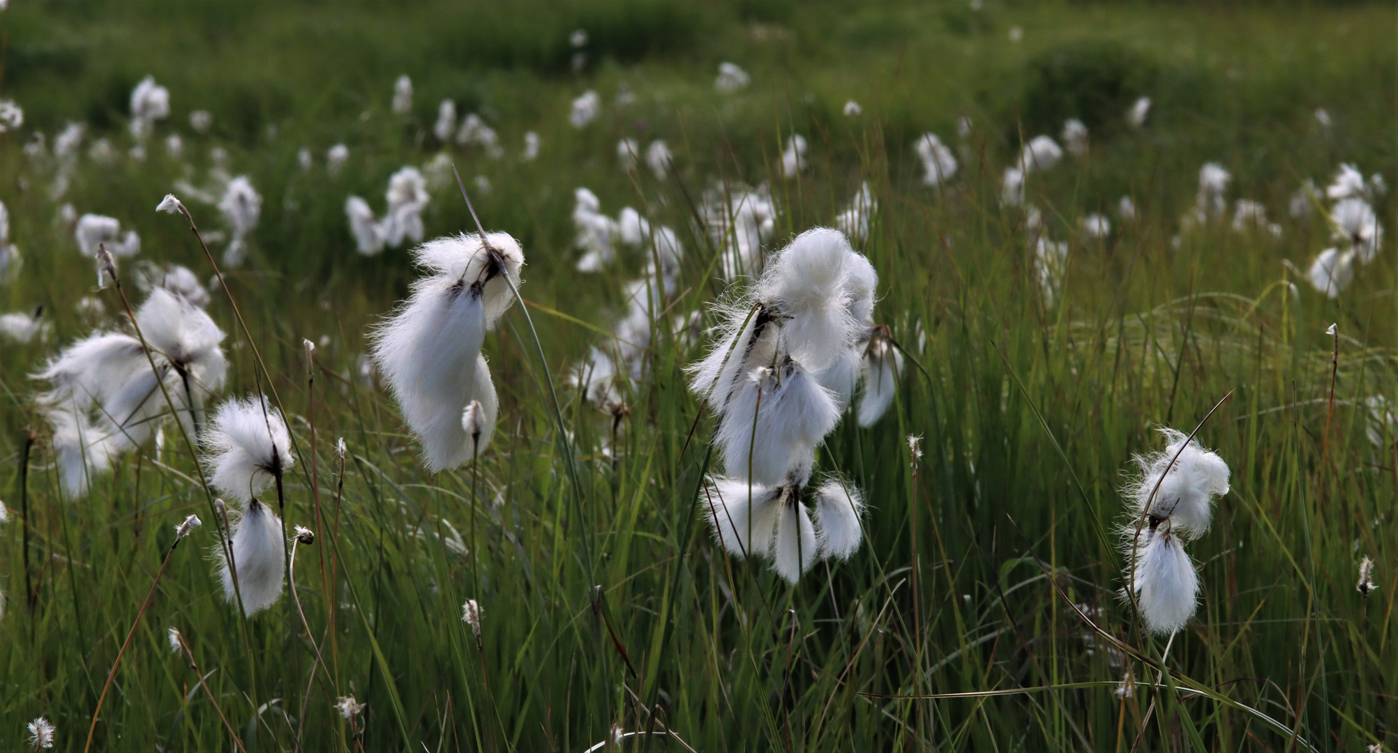
[[[779,251],[758,281],[758,299],[783,317],[783,346],[811,372],[835,363],[857,335],[846,289],[851,256],[844,233],[814,228]]]

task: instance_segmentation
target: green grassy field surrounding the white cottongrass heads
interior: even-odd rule
[[[129,633],[92,750],[1398,749],[1398,256],[1384,239],[1334,299],[1306,274],[1348,243],[1325,196],[1342,163],[1398,184],[1395,28],[1390,3],[11,0],[0,101],[24,124],[0,133],[0,203],[22,265],[0,267],[0,313],[42,316],[28,342],[0,332],[0,750],[27,749],[41,715],[55,750],[84,750]],[[751,84],[716,91],[723,61]],[[396,113],[403,74],[414,95]],[[171,106],[138,159],[129,101],[145,75]],[[600,112],[575,127],[586,91]],[[443,144],[442,99],[457,122],[478,113],[502,156]],[[1002,176],[1035,136],[1062,144],[1068,117],[1088,148],[1032,172],[1036,229]],[[85,130],[64,161],[69,123]],[[914,149],[927,131],[959,163],[935,187]],[[793,134],[809,149],[787,177]],[[621,138],[663,138],[672,169],[625,172]],[[526,305],[485,337],[495,437],[432,474],[365,367],[368,328],[419,274],[412,243],[361,256],[345,200],[382,211],[390,175],[439,154],[527,265]],[[1190,221],[1206,162],[1232,176],[1223,211]],[[229,228],[185,189],[221,169],[261,196],[226,288],[189,225],[155,212],[175,191],[225,236],[221,260]],[[439,177],[426,237],[474,231]],[[1306,180],[1317,191],[1293,214]],[[791,585],[714,542],[717,421],[685,373],[712,341],[671,323],[737,289],[698,222],[706,193],[765,183],[770,253],[832,225],[861,182],[878,205],[856,249],[906,359],[888,414],[846,414],[818,450],[865,495],[863,546]],[[607,271],[576,271],[577,187],[685,250],[611,411],[572,374],[612,342],[650,257],[619,246]],[[1391,232],[1394,191],[1369,191]],[[1236,229],[1239,200],[1267,221]],[[95,286],[64,204],[140,233],[120,292]],[[1093,212],[1104,237],[1082,229]],[[1048,271],[1040,233],[1067,244]],[[168,421],[159,447],[70,499],[36,404],[32,374],[64,346],[130,330],[141,260],[210,286],[228,334],[212,404],[267,393],[294,437],[285,522],[316,541],[295,549],[296,599],[246,620],[224,599],[194,437]],[[1198,427],[1232,469],[1188,543],[1201,599],[1173,640],[1118,598],[1123,488],[1162,426]],[[189,514],[204,525],[152,591]],[[366,707],[347,719],[340,697]],[[636,735],[608,742],[614,728]]]

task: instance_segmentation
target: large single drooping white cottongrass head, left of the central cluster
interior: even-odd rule
[[[461,414],[473,400],[495,423],[495,387],[481,345],[514,302],[503,278],[507,275],[516,286],[521,282],[524,256],[507,233],[487,237],[496,254],[481,247],[478,235],[439,237],[421,246],[417,263],[433,274],[417,279],[408,300],[372,334],[375,363],[404,422],[422,443],[432,471],[471,458]]]

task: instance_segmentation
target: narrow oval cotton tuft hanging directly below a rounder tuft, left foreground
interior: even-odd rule
[[[224,584],[224,599],[238,604],[242,597],[247,616],[277,604],[281,598],[282,571],[285,567],[287,543],[282,541],[281,518],[266,504],[250,500],[242,517],[233,524],[229,539],[233,549],[233,567],[221,549],[215,549],[218,576]],[[238,588],[233,588],[233,573],[238,570]]]

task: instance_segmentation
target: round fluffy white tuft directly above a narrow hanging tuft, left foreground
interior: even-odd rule
[[[208,482],[243,503],[267,489],[275,472],[285,472],[296,462],[287,422],[266,395],[224,401],[203,444]],[[281,538],[280,528],[277,536]],[[238,566],[242,569],[240,559]]]

